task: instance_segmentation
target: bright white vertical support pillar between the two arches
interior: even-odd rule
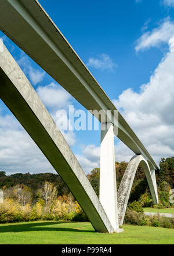
[[[102,123],[101,127],[100,202],[113,226],[114,232],[117,232],[117,184],[115,173],[114,131],[112,123]]]

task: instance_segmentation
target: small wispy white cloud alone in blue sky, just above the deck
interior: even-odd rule
[[[100,54],[99,58],[89,58],[88,67],[95,67],[95,69],[111,70],[113,71],[117,65],[113,62],[107,54]]]

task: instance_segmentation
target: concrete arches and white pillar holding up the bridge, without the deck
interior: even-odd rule
[[[124,221],[133,179],[140,163],[146,173],[154,204],[158,204],[155,171],[150,170],[148,162],[142,155],[136,155],[129,162],[119,186],[117,198],[114,132],[111,123],[108,131],[104,131],[102,135],[101,204],[77,158],[75,158],[36,91],[8,49],[3,44],[2,47],[3,51],[0,52],[0,98],[67,184],[95,230],[97,232],[121,232],[118,226],[122,225]]]

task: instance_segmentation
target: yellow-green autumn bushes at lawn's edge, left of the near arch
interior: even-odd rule
[[[3,192],[5,200],[0,204],[0,223],[59,219],[88,221],[73,195],[58,195],[53,183],[45,182],[37,190],[37,200],[24,184],[3,187]]]

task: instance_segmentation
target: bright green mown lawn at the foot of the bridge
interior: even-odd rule
[[[0,225],[0,244],[174,244],[174,229],[125,225],[96,233],[88,222],[38,221]]]

